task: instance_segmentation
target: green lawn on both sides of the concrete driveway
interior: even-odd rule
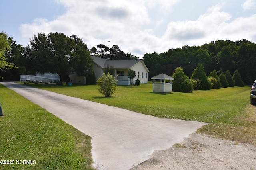
[[[256,146],[256,108],[247,86],[162,94],[153,93],[150,82],[118,86],[110,98],[102,97],[96,85],[28,86],[160,118],[208,122],[198,132]],[[92,169],[90,137],[1,84],[0,103],[0,160],[36,161],[0,169]]]

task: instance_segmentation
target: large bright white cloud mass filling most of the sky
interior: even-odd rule
[[[82,37],[89,48],[98,44],[108,47],[118,45],[125,53],[142,58],[145,53],[161,53],[170,48],[202,45],[218,39],[236,41],[245,38],[256,41],[256,15],[231,21],[232,15],[222,10],[224,4],[212,6],[197,20],[173,22],[168,17],[153,20],[148,12],[155,8],[163,11],[171,9],[180,0],[56,1],[67,8],[56,20],[38,18],[31,24],[20,26],[27,42],[32,39],[33,33],[62,32],[68,36],[76,34]],[[158,34],[161,37],[155,35],[159,27],[161,31],[164,30]]]

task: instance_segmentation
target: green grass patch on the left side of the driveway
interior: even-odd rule
[[[91,137],[2,84],[0,102],[0,160],[14,160],[0,169],[93,169]]]

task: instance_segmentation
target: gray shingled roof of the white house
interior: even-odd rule
[[[135,64],[141,62],[142,60],[108,60],[108,59],[102,59],[100,57],[92,56],[93,62],[100,66],[101,68],[107,68],[108,66],[112,66],[114,68],[131,68]],[[142,61],[143,65],[145,66],[146,70],[148,68]],[[148,71],[149,72],[149,71]]]

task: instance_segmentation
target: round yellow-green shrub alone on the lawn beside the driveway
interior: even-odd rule
[[[98,91],[103,94],[104,97],[110,97],[116,92],[117,82],[118,80],[116,80],[113,75],[103,73],[97,81],[97,85],[100,86]]]

